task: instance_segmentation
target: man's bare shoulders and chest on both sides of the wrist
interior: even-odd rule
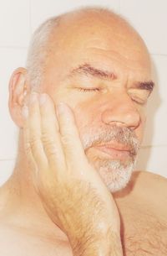
[[[121,216],[124,256],[167,255],[167,180],[136,171],[128,187],[114,198]],[[13,209],[4,215],[7,200],[8,196],[1,197],[0,255],[72,255],[60,231],[48,232],[48,227],[40,228],[31,218],[24,226],[28,212]]]

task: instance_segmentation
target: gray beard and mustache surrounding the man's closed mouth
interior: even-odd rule
[[[132,172],[139,152],[139,140],[136,138],[134,131],[129,128],[109,127],[105,131],[91,131],[92,136],[83,137],[83,147],[87,154],[88,149],[99,144],[117,142],[128,146],[130,150],[129,159],[99,159],[91,157],[87,154],[89,163],[99,172],[104,184],[107,185],[109,191],[116,192],[122,190],[131,178]],[[87,133],[88,134],[88,133]]]

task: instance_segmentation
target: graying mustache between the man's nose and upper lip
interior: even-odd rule
[[[134,130],[130,128],[120,128],[113,126],[112,128],[105,128],[103,131],[94,132],[92,135],[83,138],[83,147],[85,150],[90,147],[98,146],[104,143],[118,143],[122,144],[130,149],[130,154],[136,155],[139,151],[140,143],[139,139],[136,137]]]

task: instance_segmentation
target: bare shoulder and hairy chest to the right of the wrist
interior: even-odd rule
[[[124,256],[167,255],[167,180],[149,172],[135,172],[122,195],[126,192],[127,196],[116,199]]]

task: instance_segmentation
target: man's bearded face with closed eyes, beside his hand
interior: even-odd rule
[[[88,17],[64,23],[51,39],[42,86],[55,104],[73,109],[89,162],[114,192],[134,169],[152,83],[139,36],[111,22]]]

